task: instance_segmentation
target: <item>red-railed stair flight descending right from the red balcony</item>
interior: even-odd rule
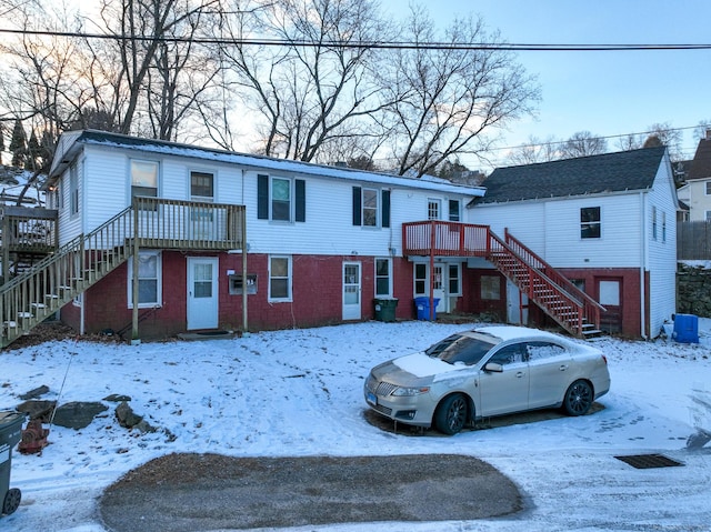
[[[488,259],[521,293],[572,335],[600,335],[600,305],[508,231],[505,241],[489,231]]]

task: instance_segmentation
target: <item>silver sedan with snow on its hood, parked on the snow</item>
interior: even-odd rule
[[[479,419],[527,410],[582,415],[609,390],[599,349],[551,332],[492,325],[377,365],[364,395],[394,421],[455,434]]]

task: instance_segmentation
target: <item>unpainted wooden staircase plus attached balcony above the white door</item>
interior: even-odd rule
[[[82,294],[139,248],[229,251],[244,248],[244,207],[139,198],[0,287],[4,348]],[[243,259],[244,260],[244,259]]]

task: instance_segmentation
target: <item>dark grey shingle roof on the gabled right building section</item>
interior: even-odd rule
[[[648,190],[665,147],[497,168],[477,204]]]

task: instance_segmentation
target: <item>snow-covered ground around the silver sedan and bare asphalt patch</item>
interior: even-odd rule
[[[528,510],[507,519],[389,523],[388,530],[709,531],[711,443],[687,449],[694,426],[711,429],[711,329],[701,343],[601,339],[612,388],[603,410],[453,438],[383,432],[364,419],[363,379],[372,365],[469,328],[431,322],[368,322],[253,333],[233,340],[104,344],[48,342],[0,352],[0,411],[46,384],[42,399],[132,398],[170,432],[119,426],[113,405],[87,429],[51,426],[41,455],[12,454],[11,485],[22,503],[0,518],[14,532],[103,532],[97,500],[129,470],[173,452],[233,456],[463,453],[509,475]],[[109,404],[109,403],[107,403]],[[638,470],[617,455],[662,453],[683,466]],[[373,486],[380,489],[382,486]],[[477,496],[472,493],[471,496]],[[309,531],[384,529],[363,524]]]

